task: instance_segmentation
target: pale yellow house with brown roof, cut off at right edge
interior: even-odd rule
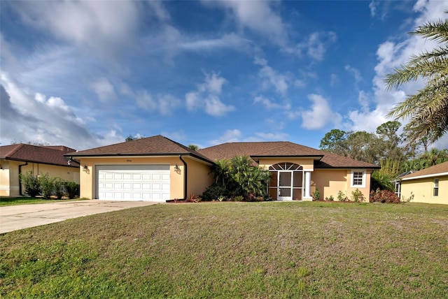
[[[448,205],[448,161],[401,177],[402,198]]]

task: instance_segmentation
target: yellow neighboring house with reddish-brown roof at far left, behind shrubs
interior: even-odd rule
[[[36,146],[27,144],[3,145],[0,147],[0,196],[19,196],[24,194],[20,184],[20,173],[32,171],[34,175],[61,177],[79,184],[79,164],[68,163],[64,154],[75,149],[55,146]]]

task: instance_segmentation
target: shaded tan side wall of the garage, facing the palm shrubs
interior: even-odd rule
[[[191,194],[200,196],[202,193],[204,193],[205,189],[207,189],[207,187],[209,187],[214,182],[213,175],[209,174],[211,167],[189,157],[183,157],[183,159],[186,161],[188,166],[186,196],[187,198],[189,198]]]

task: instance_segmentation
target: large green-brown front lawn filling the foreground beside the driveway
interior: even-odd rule
[[[0,235],[4,298],[448,298],[448,206],[152,205]]]

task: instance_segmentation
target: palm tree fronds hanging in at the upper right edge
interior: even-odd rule
[[[407,96],[388,113],[395,119],[410,117],[405,131],[414,133],[407,140],[413,144],[427,136],[435,141],[448,131],[448,20],[427,22],[410,34],[440,43],[431,52],[413,55],[407,64],[395,68],[384,80],[387,89],[419,78],[426,81],[423,89]]]

